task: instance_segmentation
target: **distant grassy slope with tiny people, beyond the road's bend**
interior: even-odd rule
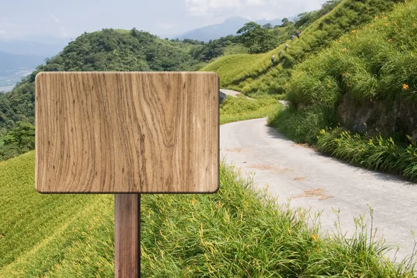
[[[294,65],[325,49],[343,33],[371,22],[376,15],[391,10],[394,3],[400,1],[344,0],[330,13],[302,31],[300,39],[288,40],[266,54],[225,56],[203,67],[202,71],[217,72],[220,85],[224,88],[242,92],[284,92],[285,83]],[[288,51],[284,51],[279,57],[278,52],[284,49],[286,43],[289,45]],[[279,62],[274,66],[270,62],[272,54],[277,55]]]

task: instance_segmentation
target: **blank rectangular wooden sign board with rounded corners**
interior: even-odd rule
[[[214,193],[219,79],[213,72],[40,72],[40,193]]]

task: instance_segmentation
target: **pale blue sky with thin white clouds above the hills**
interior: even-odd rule
[[[102,28],[179,35],[232,16],[276,19],[318,10],[325,0],[0,0],[0,40],[76,38]]]

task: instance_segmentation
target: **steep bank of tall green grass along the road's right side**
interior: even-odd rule
[[[293,107],[270,122],[323,152],[417,181],[416,17],[417,1],[398,4],[295,67]]]

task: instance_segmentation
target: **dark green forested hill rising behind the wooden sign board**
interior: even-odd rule
[[[34,147],[35,75],[52,71],[194,71],[193,44],[132,30],[84,33],[40,65],[12,92],[0,95],[0,160]],[[24,124],[22,124],[24,123]]]

